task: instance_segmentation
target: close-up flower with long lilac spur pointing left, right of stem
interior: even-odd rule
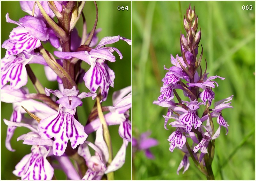
[[[77,52],[60,52],[54,51],[54,54],[62,59],[70,59],[76,57],[81,59],[91,65],[91,68],[85,73],[83,79],[85,86],[92,92],[95,93],[96,90],[101,88],[102,101],[105,101],[108,96],[109,86],[114,87],[115,73],[111,70],[105,63],[105,60],[110,62],[115,62],[116,57],[113,55],[113,51],[116,51],[123,58],[121,52],[114,47],[102,47],[106,44],[115,43],[119,40],[124,40],[129,45],[131,45],[131,40],[123,38],[121,36],[104,37],[100,43],[92,49],[87,46],[86,51]]]

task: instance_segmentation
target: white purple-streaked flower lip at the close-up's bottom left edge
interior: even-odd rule
[[[21,159],[12,173],[22,180],[51,180],[53,168],[46,159],[50,151],[44,146],[32,146],[31,153]]]

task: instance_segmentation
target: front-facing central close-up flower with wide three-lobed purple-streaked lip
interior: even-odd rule
[[[72,148],[83,144],[87,138],[84,127],[75,119],[76,107],[82,106],[80,99],[85,97],[95,98],[96,94],[81,93],[74,86],[72,89],[64,89],[63,93],[59,90],[50,90],[45,88],[45,93],[50,93],[60,98],[56,103],[60,104],[59,111],[50,117],[47,117],[39,123],[39,134],[42,138],[49,139],[54,137],[53,154],[61,156],[67,147],[68,139]]]

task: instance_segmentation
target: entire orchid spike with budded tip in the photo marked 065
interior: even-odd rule
[[[207,78],[207,66],[204,71],[202,70],[200,63],[203,57],[203,48],[200,57],[197,57],[201,30],[197,32],[198,17],[196,16],[195,9],[192,9],[190,5],[184,16],[183,23],[186,34],[180,35],[182,57],[176,55],[176,58],[174,58],[171,55],[171,63],[174,66],[169,69],[166,69],[164,66],[164,69],[169,70],[169,72],[162,79],[164,86],[161,87],[161,95],[153,104],[168,107],[167,114],[163,115],[165,119],[164,128],[166,130],[168,130],[167,123],[169,119],[174,119],[173,122],[169,123],[169,125],[176,128],[176,131],[172,132],[168,139],[171,142],[169,150],[173,152],[174,148],[177,147],[185,153],[178,167],[177,174],[179,174],[182,167],[184,167],[183,173],[188,170],[188,157],[191,156],[197,166],[200,164],[199,170],[205,171],[207,179],[214,180],[211,167],[212,153],[214,153],[212,145],[214,145],[214,140],[220,136],[221,126],[225,127],[228,133],[228,123],[224,120],[221,112],[224,108],[232,107],[230,106],[231,102],[227,102],[233,96],[215,103],[214,109],[210,108],[215,96],[212,90],[212,88],[215,88],[214,83],[219,86],[213,80],[216,78],[224,80],[225,78],[217,75]],[[188,83],[185,84],[184,81]],[[202,92],[200,92],[200,88],[203,89]],[[189,101],[183,101],[184,99],[182,100],[182,98],[184,96],[180,97],[178,92],[174,92],[174,96],[174,89],[183,90],[185,98],[189,99]],[[176,99],[174,97],[177,98],[177,103],[175,103]],[[202,102],[198,102],[199,97]],[[207,100],[208,104],[206,104]],[[184,105],[185,103],[187,105]],[[206,107],[203,109],[203,116],[199,117],[200,112],[198,109],[202,104]],[[217,123],[219,124],[214,134],[213,117],[217,117]],[[204,121],[206,121],[206,126],[202,125]],[[192,146],[189,146],[188,139],[192,139]],[[186,146],[184,146],[185,144]],[[197,153],[199,150],[201,153]],[[198,156],[199,154],[200,156]],[[207,154],[209,159],[204,159],[205,154]]]

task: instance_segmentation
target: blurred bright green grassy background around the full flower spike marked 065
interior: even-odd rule
[[[199,18],[209,76],[219,75],[215,100],[234,95],[233,109],[223,110],[229,124],[216,139],[212,163],[216,180],[255,180],[255,2],[254,1],[132,1],[132,130],[133,136],[151,130],[159,145],[151,148],[155,160],[143,152],[135,155],[133,179],[205,180],[190,159],[188,171],[176,174],[183,155],[169,151],[169,135],[164,129],[167,108],[153,105],[160,95],[161,80],[169,68],[170,54],[180,53],[180,31],[191,3]],[[253,10],[242,10],[252,5]],[[201,47],[199,48],[199,53]],[[202,61],[204,70],[205,63]],[[182,93],[182,92],[181,92]],[[214,102],[213,102],[214,103]],[[213,104],[212,104],[213,105]],[[216,130],[216,118],[215,122]],[[172,122],[169,120],[168,123]]]

